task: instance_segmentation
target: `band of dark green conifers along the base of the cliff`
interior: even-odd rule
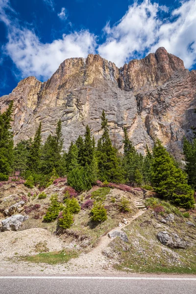
[[[47,187],[57,177],[68,178],[76,191],[91,189],[97,180],[127,183],[154,189],[161,197],[184,208],[192,208],[196,188],[196,139],[184,139],[185,170],[178,167],[174,158],[161,142],[154,143],[152,151],[146,147],[146,156],[139,154],[124,128],[123,154],[112,145],[109,124],[104,110],[101,115],[102,135],[96,146],[90,128],[84,137],[79,136],[63,151],[62,125],[59,120],[54,135],[42,144],[42,124],[34,138],[22,140],[15,147],[11,121],[13,102],[0,114],[0,180],[7,180],[13,171],[19,171],[26,185]]]

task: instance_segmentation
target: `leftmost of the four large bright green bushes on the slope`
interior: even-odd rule
[[[48,207],[47,213],[44,216],[44,221],[54,221],[58,217],[58,214],[61,210],[64,209],[62,203],[58,202],[57,194],[54,194],[50,197],[50,205]]]

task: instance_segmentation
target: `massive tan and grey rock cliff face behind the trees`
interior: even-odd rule
[[[123,127],[134,145],[161,139],[171,151],[181,149],[184,134],[196,126],[196,71],[164,48],[118,69],[99,55],[65,60],[47,82],[22,80],[10,95],[0,98],[0,110],[14,100],[15,142],[33,137],[42,121],[43,140],[62,121],[64,147],[85,132],[89,124],[101,135],[100,115],[105,110],[113,143],[122,148]]]

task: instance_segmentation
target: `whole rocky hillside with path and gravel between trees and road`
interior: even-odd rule
[[[21,274],[39,271],[98,274],[103,270],[107,273],[117,270],[196,273],[196,211],[189,211],[186,218],[185,210],[152,198],[155,194],[145,189],[126,185],[114,188],[114,184],[101,188],[99,183],[75,196],[83,209],[74,215],[70,229],[59,230],[57,221],[45,222],[43,216],[50,196],[57,193],[63,203],[65,191],[70,189],[66,179],[58,179],[44,190],[47,197],[39,199],[37,188],[4,182],[0,190],[1,221],[7,210],[10,215],[20,214],[28,219],[17,231],[12,228],[0,232],[1,274],[17,272],[18,267]],[[96,197],[101,197],[108,211],[107,221],[97,225],[90,221],[91,207],[84,205]],[[128,200],[129,212],[120,210],[122,198]],[[9,209],[20,201],[25,202],[21,208]],[[141,203],[147,208],[139,208]],[[110,239],[108,232],[110,236],[117,236],[116,239]],[[162,235],[167,232],[170,242],[166,236],[165,243],[161,244],[160,232]]]

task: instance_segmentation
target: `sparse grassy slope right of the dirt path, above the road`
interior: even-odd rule
[[[119,252],[120,258],[115,268],[129,272],[196,274],[196,228],[188,227],[186,219],[178,215],[173,223],[160,227],[161,216],[155,217],[151,212],[148,210],[126,227],[129,239],[126,246],[118,238],[112,241],[110,246]],[[190,246],[172,249],[162,245],[157,233],[163,230],[178,234]]]

